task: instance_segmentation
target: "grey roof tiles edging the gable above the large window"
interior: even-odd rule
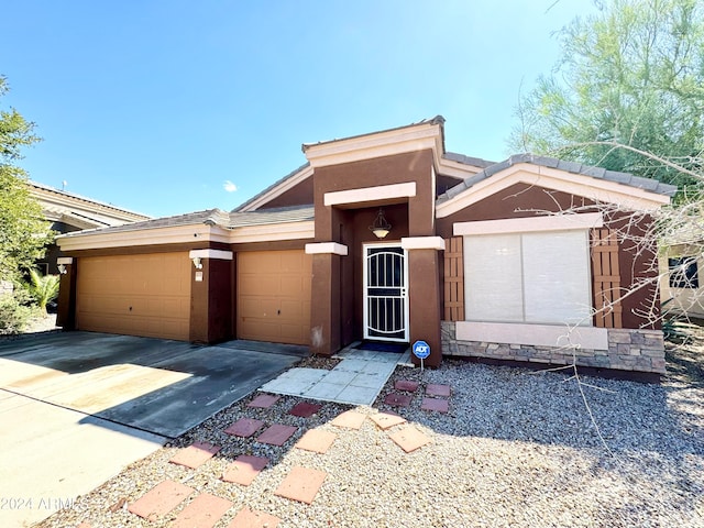
[[[634,176],[632,174],[629,174],[629,173],[607,170],[602,167],[582,165],[581,163],[576,163],[576,162],[565,162],[562,160],[558,160],[556,157],[538,156],[535,154],[516,154],[501,163],[495,163],[493,165],[487,166],[486,168],[484,168],[484,170],[473,176],[470,176],[461,184],[458,184],[454,187],[448,189],[447,193],[438,197],[438,202],[441,204],[451,198],[454,198],[460,193],[463,193],[470,187],[476,185],[477,183],[484,179],[487,179],[492,177],[494,174],[505,170],[513,165],[518,165],[520,163],[529,163],[531,165],[557,168],[559,170],[565,170],[568,173],[573,173],[573,174],[581,174],[581,175],[590,176],[592,178],[597,178],[597,179],[607,179],[609,182],[616,182],[617,184],[648,190],[650,193],[656,193],[658,195],[673,196],[678,190],[676,186],[674,185],[662,184],[656,179],[641,178],[639,176]]]

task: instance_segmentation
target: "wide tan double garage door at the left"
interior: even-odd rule
[[[79,258],[78,329],[187,341],[190,265],[188,253]]]

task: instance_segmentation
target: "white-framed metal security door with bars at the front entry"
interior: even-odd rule
[[[364,339],[408,341],[407,277],[400,245],[364,245]]]

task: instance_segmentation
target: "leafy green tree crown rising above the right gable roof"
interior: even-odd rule
[[[597,8],[558,33],[562,58],[521,98],[512,148],[695,184],[636,150],[702,168],[704,0],[610,0]]]

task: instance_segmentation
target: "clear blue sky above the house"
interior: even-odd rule
[[[588,0],[6,2],[0,74],[36,182],[151,216],[230,210],[301,143],[442,114],[499,161],[552,33]],[[234,190],[237,188],[237,190]]]

